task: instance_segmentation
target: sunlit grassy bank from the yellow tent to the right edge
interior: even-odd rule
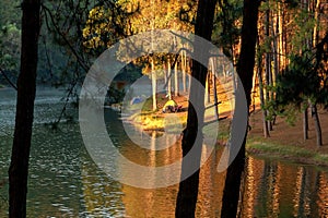
[[[185,128],[187,122],[187,99],[180,97],[175,100],[178,105],[183,105],[183,111],[174,113],[176,119],[173,123],[165,122],[167,120],[165,117],[172,113],[163,113],[160,110],[134,114],[129,118],[129,121],[144,131],[164,131],[174,129],[175,125]],[[231,122],[227,108],[223,109],[224,107],[220,107],[220,117],[227,117],[229,119],[220,121],[219,144],[223,144],[226,141]],[[326,110],[319,111],[324,142],[324,145],[320,147],[316,146],[316,135],[312,120],[309,120],[309,138],[303,140],[302,116],[300,114],[298,117],[300,119],[295,120],[294,125],[288,124],[283,118],[277,118],[276,125],[270,131],[270,137],[265,138],[261,129],[261,111],[257,109],[249,118],[251,129],[247,136],[247,153],[266,158],[328,167],[328,112]],[[171,126],[167,126],[167,124]]]

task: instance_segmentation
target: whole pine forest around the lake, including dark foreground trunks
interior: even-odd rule
[[[178,36],[173,41],[152,36],[152,41],[163,46],[163,52],[145,55],[128,63],[125,63],[125,58],[129,57],[122,55],[127,48],[121,47],[116,53],[126,65],[115,77],[115,83],[108,84],[109,101],[106,105],[121,107],[128,88],[118,87],[119,84],[129,87],[142,75],[151,80],[152,86],[152,96],[148,96],[147,101],[148,113],[162,111],[160,86],[164,87],[165,100],[178,99],[187,93],[189,102],[194,102],[186,109],[180,155],[187,156],[192,146],[198,152],[189,162],[183,158],[181,178],[192,165],[198,170],[179,183],[176,217],[195,217],[197,210],[202,128],[206,126],[204,114],[209,105],[215,108],[215,118],[220,120],[218,77],[233,81],[234,95],[245,93],[246,105],[242,109],[247,117],[260,112],[261,137],[270,138],[274,134],[279,118],[292,124],[301,119],[303,126],[298,128],[303,140],[306,142],[311,137],[313,123],[316,149],[327,145],[320,120],[320,114],[326,116],[328,109],[326,0],[2,0],[0,14],[0,88],[16,90],[8,181],[10,217],[26,217],[36,87],[63,88],[66,95],[62,97],[67,102],[73,98],[71,104],[78,105],[79,92],[89,70],[106,49],[121,39],[142,33],[152,34],[156,29],[200,36],[215,45],[232,63],[215,70],[215,59],[209,50],[192,47],[188,38]],[[164,52],[164,47],[179,44],[183,49]],[[209,66],[199,60],[208,62]],[[197,88],[191,78],[204,88]],[[58,129],[61,114],[58,122],[52,123],[54,130]],[[247,131],[245,134],[234,132],[239,123],[232,121],[230,124],[231,138],[237,135],[243,138],[235,156],[232,152],[236,146],[234,141],[227,143],[231,165],[224,177],[221,217],[239,216],[247,159]],[[248,122],[245,128],[251,133],[254,126]],[[198,134],[201,134],[201,140]]]

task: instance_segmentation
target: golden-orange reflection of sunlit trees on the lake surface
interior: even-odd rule
[[[167,143],[172,143],[167,140]],[[155,146],[155,141],[152,141]],[[209,147],[203,154],[209,153]],[[180,144],[152,153],[122,149],[122,155],[148,156],[150,166],[167,165],[180,157]],[[136,158],[136,157],[134,157]],[[220,217],[225,173],[216,172],[220,152],[212,154],[200,170],[196,217]],[[159,164],[160,162],[160,164]],[[178,184],[163,189],[138,189],[90,177],[93,170],[82,168],[85,209],[90,215],[108,209],[115,217],[174,217]],[[154,178],[156,174],[153,175]],[[241,217],[328,217],[328,172],[305,166],[247,158]],[[151,180],[152,178],[150,178]]]

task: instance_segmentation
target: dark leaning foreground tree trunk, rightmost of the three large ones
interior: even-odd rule
[[[251,80],[255,65],[255,47],[257,38],[257,20],[258,8],[260,1],[244,0],[243,9],[243,27],[242,27],[242,48],[241,56],[237,64],[237,73],[243,83],[247,105],[250,106],[251,95]],[[239,87],[239,86],[238,86]],[[236,133],[237,134],[237,133]],[[233,137],[234,135],[232,135]],[[222,210],[221,217],[233,218],[237,215],[238,199],[239,199],[239,186],[242,174],[245,167],[245,144],[246,136],[242,148],[237,154],[237,157],[229,166],[225,178],[225,185],[223,190]],[[233,146],[233,145],[232,145]]]

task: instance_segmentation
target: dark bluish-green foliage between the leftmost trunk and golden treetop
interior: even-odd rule
[[[90,1],[45,1],[44,25],[39,40],[42,82],[61,86],[82,83],[92,56],[82,46],[82,29],[87,19]]]

